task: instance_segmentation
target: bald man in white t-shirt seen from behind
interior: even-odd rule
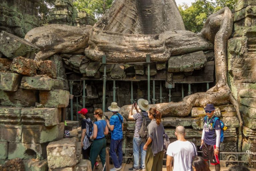
[[[173,171],[191,171],[191,162],[197,155],[196,147],[193,143],[185,139],[185,128],[177,126],[175,136],[177,141],[169,144],[167,149],[166,171],[171,171],[172,160],[174,159]]]

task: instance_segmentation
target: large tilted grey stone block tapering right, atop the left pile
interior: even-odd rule
[[[39,48],[32,43],[13,34],[2,31],[0,33],[0,51],[7,58],[14,59],[27,53],[37,53]]]

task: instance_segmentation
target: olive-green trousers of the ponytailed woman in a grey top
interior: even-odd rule
[[[164,151],[160,151],[155,156],[153,155],[151,144],[148,145],[145,159],[146,171],[162,171]]]

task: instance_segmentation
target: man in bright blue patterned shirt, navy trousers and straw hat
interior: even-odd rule
[[[117,106],[116,102],[112,102],[108,110],[113,112],[110,121],[106,119],[107,126],[111,131],[110,149],[109,154],[112,159],[114,167],[110,171],[121,170],[123,161],[123,117],[118,113],[120,107]],[[116,151],[115,151],[116,150]],[[117,157],[118,154],[118,157]]]

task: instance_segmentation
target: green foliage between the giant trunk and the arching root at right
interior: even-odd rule
[[[228,6],[234,8],[237,0],[196,0],[191,6],[187,4],[179,5],[179,11],[185,24],[186,30],[199,33],[206,19],[221,8]]]

